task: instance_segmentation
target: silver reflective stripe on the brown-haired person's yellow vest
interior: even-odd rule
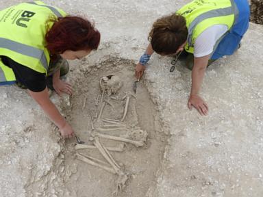
[[[236,7],[236,3],[234,2],[234,0],[231,0],[231,7],[228,8],[219,8],[216,10],[210,10],[208,12],[205,12],[203,14],[200,14],[199,16],[197,16],[197,18],[195,18],[194,21],[192,21],[192,23],[189,25],[188,27],[188,47],[193,47],[192,45],[192,31],[194,31],[195,27],[203,20],[208,19],[208,18],[214,18],[214,17],[218,17],[218,16],[228,16],[234,14],[235,15],[235,19],[234,19],[234,23],[236,21],[236,17],[238,16],[238,9]],[[234,26],[234,24],[233,24]]]

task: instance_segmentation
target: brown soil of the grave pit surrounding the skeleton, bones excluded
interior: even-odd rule
[[[86,144],[93,145],[90,141],[91,117],[96,117],[96,114],[99,116],[99,111],[103,105],[101,99],[99,99],[99,105],[96,105],[98,96],[101,95],[103,89],[101,89],[100,80],[105,76],[114,75],[116,79],[121,81],[121,88],[118,87],[118,90],[114,90],[116,94],[114,94],[114,91],[110,91],[113,99],[108,96],[108,93],[104,92],[104,99],[109,101],[111,105],[106,103],[101,114],[101,119],[121,120],[126,103],[126,99],[123,99],[123,97],[127,93],[132,92],[132,84],[136,80],[134,77],[134,66],[134,63],[129,60],[112,58],[93,66],[93,69],[89,70],[90,72],[84,69],[84,75],[75,81],[75,93],[71,97],[71,109],[66,109],[66,112],[67,117],[70,117],[70,122],[75,129],[76,135]],[[121,124],[125,124],[125,127],[115,131],[114,129],[112,131],[103,131],[98,128],[105,128],[103,124],[110,123],[102,122],[101,120],[97,122],[96,118],[93,121],[95,131],[97,130],[97,132],[107,135],[125,135],[128,131],[136,129],[147,131],[145,146],[137,148],[127,143],[122,153],[110,151],[115,161],[129,174],[127,186],[118,196],[145,196],[149,187],[155,185],[155,174],[163,158],[167,137],[162,132],[160,118],[155,110],[155,105],[150,99],[147,88],[143,85],[143,81],[138,83],[138,88],[134,95],[136,99],[134,96],[130,97],[127,116],[121,122]],[[118,176],[76,159],[76,151],[71,142],[68,142],[68,148],[65,151],[65,165],[77,166],[75,174],[66,180],[66,187],[71,191],[71,195],[82,197],[113,196]],[[102,138],[101,143],[107,147],[120,147],[123,145],[122,142]],[[77,153],[107,162],[97,149],[77,150]]]

